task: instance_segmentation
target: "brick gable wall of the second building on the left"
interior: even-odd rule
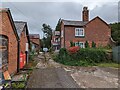
[[[24,30],[22,31],[22,33],[20,35],[20,52],[22,52],[22,53],[25,53],[26,43],[28,42],[28,39],[27,39],[25,33],[26,32],[25,32],[25,28],[24,28]]]

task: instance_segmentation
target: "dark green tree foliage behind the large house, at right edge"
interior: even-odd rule
[[[120,45],[120,22],[119,23],[112,23],[111,26],[111,36],[114,41],[117,42],[117,45]]]

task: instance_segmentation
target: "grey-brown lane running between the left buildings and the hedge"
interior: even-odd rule
[[[46,60],[45,60],[46,58]],[[39,55],[39,63],[30,76],[27,88],[79,88],[78,84],[49,54]]]

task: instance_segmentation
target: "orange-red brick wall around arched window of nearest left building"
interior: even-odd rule
[[[0,13],[0,27],[2,27],[2,32],[0,34],[6,35],[8,37],[8,71],[10,74],[14,74],[17,71],[17,39],[13,28],[11,26],[9,17],[6,12]],[[1,26],[2,25],[2,26]],[[1,28],[0,28],[1,29]]]

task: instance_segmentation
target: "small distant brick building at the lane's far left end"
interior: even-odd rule
[[[40,36],[39,34],[30,34],[31,49],[39,53],[40,51]]]

